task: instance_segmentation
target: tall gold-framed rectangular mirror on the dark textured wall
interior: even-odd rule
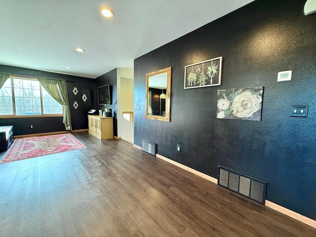
[[[171,67],[146,74],[146,118],[170,121]]]

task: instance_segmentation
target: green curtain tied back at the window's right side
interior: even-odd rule
[[[65,106],[63,123],[65,127],[71,127],[71,116],[68,101],[68,94],[65,80],[51,79],[51,78],[37,78],[40,85],[53,97],[58,103]]]

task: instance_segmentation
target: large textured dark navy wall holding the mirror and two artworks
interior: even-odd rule
[[[305,2],[256,0],[135,59],[134,143],[215,178],[223,165],[266,180],[268,200],[315,220],[316,14]],[[186,65],[219,56],[222,85],[183,88]],[[170,66],[170,122],[146,119],[146,74]],[[277,82],[286,70],[292,80]],[[264,86],[262,121],[216,118],[217,90],[252,86]],[[309,105],[308,117],[290,117],[291,105]]]

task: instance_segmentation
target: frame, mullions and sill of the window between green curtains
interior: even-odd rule
[[[26,80],[36,80],[38,79],[34,77],[27,77],[27,76],[18,76],[18,75],[10,75],[8,78],[11,80],[11,93],[12,93],[12,106],[13,106],[13,115],[0,115],[0,118],[39,118],[39,117],[63,117],[64,116],[64,111],[65,111],[65,106],[62,105],[63,107],[63,112],[61,114],[43,114],[43,97],[42,97],[42,89],[45,90],[44,87],[41,86],[40,84],[40,110],[41,110],[41,115],[17,115],[16,114],[16,105],[15,105],[15,94],[14,94],[14,86],[13,86],[13,79],[26,79]],[[7,80],[8,80],[7,79]],[[47,92],[48,93],[48,92]],[[58,103],[58,102],[57,102]]]

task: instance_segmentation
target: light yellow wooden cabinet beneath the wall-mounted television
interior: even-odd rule
[[[88,115],[89,134],[101,139],[113,139],[113,117]]]

